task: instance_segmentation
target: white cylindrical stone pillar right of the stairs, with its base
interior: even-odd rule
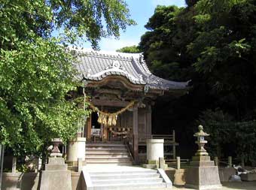
[[[147,139],[147,160],[148,164],[144,164],[143,167],[158,168],[159,159],[163,158],[163,139]],[[163,167],[167,167],[165,163]]]

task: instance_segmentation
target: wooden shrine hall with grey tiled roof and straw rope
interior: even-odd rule
[[[126,141],[133,158],[139,160],[145,140],[154,137],[151,133],[154,101],[161,95],[184,95],[188,82],[155,76],[142,54],[93,50],[76,50],[76,53],[78,77],[84,83],[84,94],[93,110],[82,135],[87,142]],[[173,147],[175,156],[174,131],[161,137]]]

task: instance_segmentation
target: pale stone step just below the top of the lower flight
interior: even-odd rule
[[[122,175],[120,175],[120,173],[113,173],[113,174],[90,174],[90,179],[92,181],[94,180],[103,180],[103,179],[138,179],[141,178],[143,176],[143,178],[159,178],[160,174],[159,173],[124,173]]]

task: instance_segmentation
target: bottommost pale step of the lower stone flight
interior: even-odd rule
[[[164,182],[143,182],[136,184],[115,184],[115,185],[94,185],[93,190],[120,190],[120,189],[138,189],[138,188],[165,188],[166,184]]]

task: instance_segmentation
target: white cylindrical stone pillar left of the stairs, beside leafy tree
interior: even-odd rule
[[[78,161],[78,158],[81,158],[82,161],[85,160],[85,142],[86,138],[84,137],[76,137],[74,140],[69,141],[68,161]]]

